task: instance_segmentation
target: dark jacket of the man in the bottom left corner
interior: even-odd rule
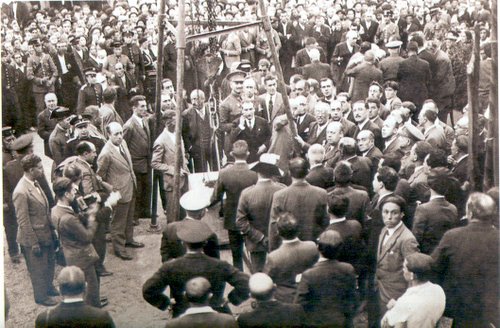
[[[50,311],[47,316],[47,311]],[[86,305],[83,300],[74,303],[61,302],[55,308],[40,313],[35,322],[36,328],[44,327],[92,327],[114,328],[113,319],[107,311]],[[47,322],[47,317],[49,321]]]

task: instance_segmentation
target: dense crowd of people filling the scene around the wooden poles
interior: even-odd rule
[[[174,25],[177,11],[167,1]],[[188,43],[184,81],[166,24],[154,113],[156,3],[2,4],[8,253],[24,259],[37,304],[62,296],[37,327],[114,326],[97,309],[108,303],[100,279],[113,274],[106,243],[124,261],[145,246],[134,226],[156,212],[153,180],[168,224],[143,296],[172,309],[168,327],[352,327],[360,313],[369,327],[498,325],[498,186],[471,190],[492,180],[489,3],[272,0],[267,11],[273,40],[251,27]],[[190,1],[187,32],[260,15],[253,0]],[[466,81],[477,25],[472,177]],[[189,190],[190,175],[208,171],[217,180]],[[219,203],[231,264],[201,221]],[[56,264],[66,267],[59,290]],[[250,296],[251,312],[228,315],[228,302]]]

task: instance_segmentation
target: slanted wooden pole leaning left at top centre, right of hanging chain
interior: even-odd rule
[[[295,126],[295,124],[293,124],[294,118],[292,112],[290,111],[290,100],[288,99],[288,94],[286,92],[286,83],[285,79],[283,78],[280,59],[278,56],[278,52],[276,51],[276,45],[274,44],[274,35],[271,29],[271,21],[269,20],[269,16],[267,16],[267,9],[264,1],[265,0],[259,0],[260,13],[262,15],[262,22],[264,23],[264,31],[266,32],[267,42],[269,43],[269,47],[271,48],[272,61],[276,70],[276,75],[278,76],[278,90],[283,95],[283,104],[285,105],[285,113],[289,122],[288,125],[290,127],[290,131],[292,132],[292,136],[295,137],[297,136],[297,127]]]

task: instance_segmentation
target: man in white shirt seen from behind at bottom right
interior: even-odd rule
[[[445,308],[446,297],[441,286],[429,281],[432,257],[413,253],[403,263],[403,274],[408,289],[397,300],[391,300],[390,310],[382,318],[383,328],[436,327]]]

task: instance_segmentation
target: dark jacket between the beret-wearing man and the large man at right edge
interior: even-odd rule
[[[444,233],[457,225],[457,208],[444,197],[435,198],[417,206],[412,232],[420,244],[420,251],[431,254]]]

